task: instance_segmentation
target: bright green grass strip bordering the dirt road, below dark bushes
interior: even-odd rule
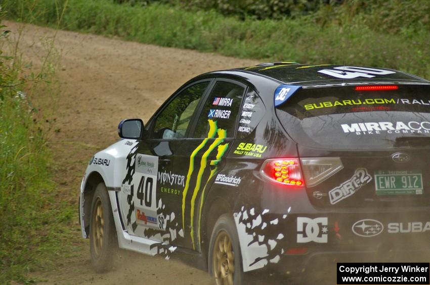
[[[33,3],[32,10],[16,12],[23,2]],[[13,7],[9,6],[11,19],[52,26],[59,17],[57,11],[61,11],[66,1],[16,0],[14,3]],[[388,8],[384,6],[385,10]],[[375,19],[372,14],[354,16],[349,11],[343,14],[339,11],[329,14],[321,10],[314,16],[295,19],[242,21],[215,11],[187,11],[158,4],[141,7],[109,0],[69,0],[60,27],[239,58],[387,67],[430,77],[430,33],[426,26],[416,30],[408,22],[391,33],[386,29],[392,24],[386,24],[385,30],[375,28],[378,27],[376,20],[381,19],[380,10],[374,12]],[[396,13],[400,13],[398,17],[403,15]],[[348,17],[339,24],[336,19],[345,14]],[[324,20],[329,15],[333,15],[333,20]]]

